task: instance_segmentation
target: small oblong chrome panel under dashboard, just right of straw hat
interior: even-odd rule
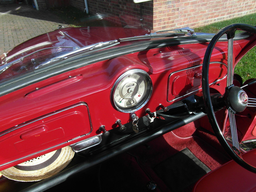
[[[72,150],[74,152],[79,152],[82,150],[86,150],[90,147],[96,146],[98,144],[100,144],[102,141],[102,133],[96,136],[93,136],[91,138],[85,139],[83,141],[80,141],[78,143],[72,144]]]

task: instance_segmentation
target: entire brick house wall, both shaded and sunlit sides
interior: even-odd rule
[[[84,0],[69,2],[85,9]],[[133,0],[87,0],[87,3],[90,14],[106,13],[123,26],[144,23],[154,30],[199,27],[256,12],[256,0],[152,0],[138,4]]]

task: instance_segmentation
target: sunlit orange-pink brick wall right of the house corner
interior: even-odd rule
[[[153,29],[193,28],[255,12],[255,0],[154,0]]]

